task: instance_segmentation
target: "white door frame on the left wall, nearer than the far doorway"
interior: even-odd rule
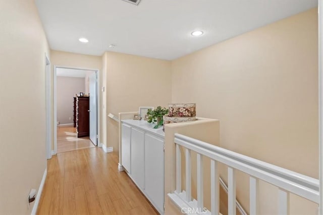
[[[51,159],[51,76],[50,76],[50,60],[45,53],[45,101],[46,101],[46,159]]]

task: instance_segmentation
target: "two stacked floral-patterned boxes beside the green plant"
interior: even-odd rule
[[[176,122],[188,122],[196,120],[196,104],[169,104],[169,113],[167,116],[163,116],[165,131],[165,125]]]

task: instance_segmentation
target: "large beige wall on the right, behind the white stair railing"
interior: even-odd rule
[[[317,178],[317,64],[312,9],[172,61],[172,102],[219,119],[221,147]],[[247,182],[237,194],[248,211]],[[277,214],[266,186],[261,212]]]

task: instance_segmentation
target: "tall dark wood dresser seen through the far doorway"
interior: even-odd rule
[[[76,129],[77,137],[89,136],[90,112],[89,97],[76,97]]]

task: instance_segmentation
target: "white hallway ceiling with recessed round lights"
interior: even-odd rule
[[[36,5],[51,49],[172,60],[316,7],[317,0],[142,0],[139,6],[122,0],[36,0]],[[192,37],[193,30],[204,34]]]

